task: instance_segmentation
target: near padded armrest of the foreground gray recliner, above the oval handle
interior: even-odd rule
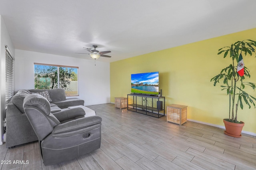
[[[99,116],[83,117],[54,127],[53,137],[67,137],[95,129],[101,126],[102,118]]]

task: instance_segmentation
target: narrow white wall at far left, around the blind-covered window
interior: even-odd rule
[[[10,38],[10,35],[6,29],[6,25],[4,23],[4,20],[2,16],[0,15],[0,58],[1,58],[1,67],[0,67],[0,110],[1,110],[1,119],[0,119],[0,134],[1,134],[1,139],[0,139],[0,145],[2,145],[2,136],[4,133],[4,128],[2,125],[2,122],[4,118],[6,117],[6,110],[5,110],[5,46],[7,45],[13,55],[15,57],[15,51],[14,51],[14,45],[12,44],[12,40]]]

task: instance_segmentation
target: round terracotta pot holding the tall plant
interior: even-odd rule
[[[225,121],[223,119],[226,131],[224,133],[226,135],[232,136],[232,137],[241,137],[241,132],[244,127],[244,122],[241,121],[241,123],[232,123],[229,121]]]

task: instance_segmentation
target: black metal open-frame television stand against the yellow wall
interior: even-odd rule
[[[127,109],[153,117],[165,116],[165,97],[127,94]]]

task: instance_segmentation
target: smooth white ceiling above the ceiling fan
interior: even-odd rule
[[[113,62],[256,27],[256,0],[0,0],[16,49]]]

